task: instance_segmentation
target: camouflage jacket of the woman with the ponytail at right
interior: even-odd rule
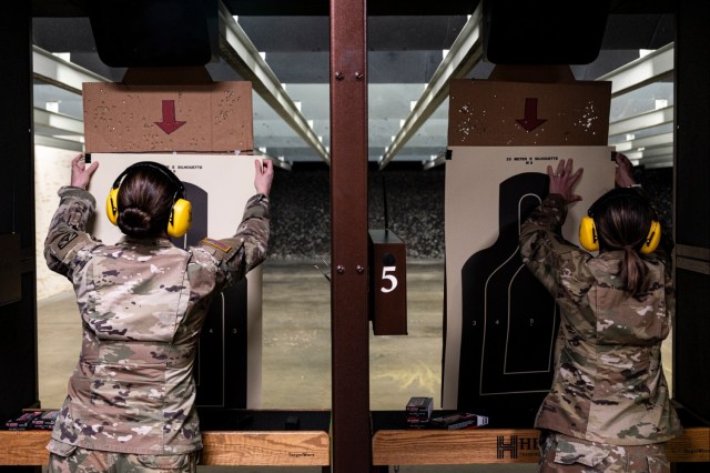
[[[592,256],[565,241],[565,201],[550,194],[523,224],[520,253],[560,308],[556,372],[536,427],[612,445],[681,433],[661,366],[674,311],[670,261],[643,256],[649,289],[620,288],[620,252]],[[657,254],[658,253],[658,254]]]

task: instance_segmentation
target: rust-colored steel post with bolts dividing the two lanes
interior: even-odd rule
[[[372,464],[367,319],[367,13],[331,0],[333,472]]]

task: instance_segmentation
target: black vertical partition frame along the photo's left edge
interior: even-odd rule
[[[0,53],[8,73],[0,87],[12,91],[0,117],[0,234],[20,242],[20,268],[0,256],[2,285],[20,285],[21,298],[0,304],[0,416],[11,419],[20,409],[39,405],[37,370],[37,261],[34,252],[34,147],[32,118],[32,6],[17,4],[0,18]],[[10,112],[11,111],[11,112]],[[6,250],[7,251],[7,250]],[[42,264],[44,261],[42,261]],[[11,362],[9,360],[12,360]]]

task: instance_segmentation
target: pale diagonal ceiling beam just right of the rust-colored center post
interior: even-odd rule
[[[424,89],[422,97],[414,104],[412,112],[405,119],[402,128],[394,137],[392,144],[379,159],[379,170],[385,169],[407,141],[417,132],[426,120],[448,97],[448,84],[452,79],[465,77],[476,66],[484,54],[483,44],[483,12],[478,4],[452,49],[448,51],[432,80]]]

